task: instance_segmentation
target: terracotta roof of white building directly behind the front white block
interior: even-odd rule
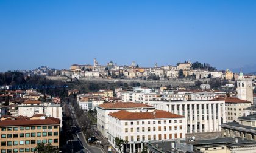
[[[100,104],[98,107],[103,109],[132,109],[132,108],[154,108],[148,104],[133,103],[133,102],[118,102],[118,103],[104,103]]]

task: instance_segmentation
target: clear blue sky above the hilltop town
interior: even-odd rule
[[[255,65],[256,1],[0,1],[0,72],[113,61]]]

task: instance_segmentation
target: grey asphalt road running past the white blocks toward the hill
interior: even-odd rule
[[[69,105],[68,105],[68,107],[69,107],[69,110],[71,110],[71,107]],[[76,117],[75,114],[72,114],[72,120],[73,120],[73,123],[75,125],[78,125],[80,127],[80,124],[77,121],[77,117]],[[79,138],[79,140],[80,140],[79,142],[82,143],[82,146],[84,146],[84,149],[81,150],[82,152],[85,152],[85,153],[105,153],[101,148],[88,145],[83,132],[77,132],[77,138]]]

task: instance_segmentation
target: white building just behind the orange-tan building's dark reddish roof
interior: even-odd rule
[[[36,114],[44,114],[48,117],[59,118],[60,129],[62,130],[62,106],[55,103],[41,103],[41,101],[24,101],[23,104],[18,105],[18,115],[32,117]]]

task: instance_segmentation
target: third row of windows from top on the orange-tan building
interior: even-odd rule
[[[1,141],[1,146],[17,146],[24,144],[47,143],[47,140],[26,140],[26,141]],[[48,139],[48,143],[52,143],[52,139]],[[53,143],[58,143],[58,139],[54,139]]]

